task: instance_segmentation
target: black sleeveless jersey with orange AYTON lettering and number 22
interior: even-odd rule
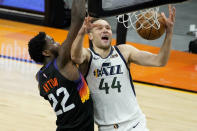
[[[93,104],[89,88],[80,74],[76,81],[66,79],[58,71],[56,60],[37,74],[40,95],[54,109],[57,131],[93,131]]]

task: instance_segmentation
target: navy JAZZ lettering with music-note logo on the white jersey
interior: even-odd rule
[[[103,63],[101,69],[95,69],[93,73],[95,77],[123,74],[121,65],[111,66],[111,63]]]

